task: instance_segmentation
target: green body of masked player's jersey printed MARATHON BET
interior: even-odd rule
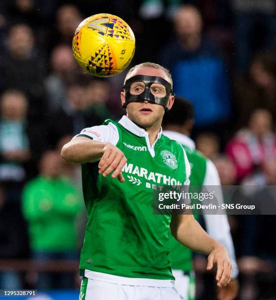
[[[82,165],[88,222],[80,269],[134,278],[173,279],[166,248],[171,216],[153,214],[152,184],[186,181],[183,148],[162,135],[152,157],[145,137],[111,120],[104,124],[109,122],[117,127],[116,146],[128,159],[122,171],[126,181],[99,175],[98,162]],[[175,155],[177,168],[166,165],[161,154],[164,150]]]

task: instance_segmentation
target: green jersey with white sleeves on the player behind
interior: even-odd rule
[[[170,130],[165,130],[164,134],[170,139],[178,141],[186,150],[191,165],[189,192],[203,192],[203,187],[208,190],[208,186],[214,185],[217,186],[217,200],[223,203],[220,177],[215,165],[208,158],[195,150],[194,142],[189,137]],[[192,200],[192,202],[196,204],[194,201],[197,200]],[[198,216],[194,215],[194,217],[197,219]],[[233,268],[232,278],[236,278],[239,274],[239,270],[236,263],[227,216],[203,214],[203,218],[208,234],[218,240],[228,251]],[[171,237],[169,241],[169,248],[169,260],[171,261],[172,269],[190,273],[192,271],[192,251],[178,243],[173,237]]]

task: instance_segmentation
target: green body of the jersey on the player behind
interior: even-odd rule
[[[186,151],[188,160],[191,165],[191,175],[190,175],[190,189],[189,192],[195,192],[195,190],[200,189],[203,185],[207,159],[196,150],[190,150],[186,146],[183,146]],[[197,192],[200,192],[198,190]],[[193,201],[192,201],[193,203]],[[195,219],[198,216],[194,215]],[[181,243],[176,241],[172,236],[169,240],[168,248],[169,260],[171,262],[171,268],[173,270],[183,270],[184,272],[190,272],[192,270],[192,258],[193,251],[187,247],[184,247]]]

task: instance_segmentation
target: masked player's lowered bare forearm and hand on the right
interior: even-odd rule
[[[207,270],[217,263],[218,286],[225,286],[232,276],[232,266],[227,250],[212,239],[194,219],[192,214],[172,215],[171,233],[180,243],[193,251],[207,254]]]

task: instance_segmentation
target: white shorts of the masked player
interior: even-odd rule
[[[184,300],[174,287],[109,283],[88,278],[82,300]]]

